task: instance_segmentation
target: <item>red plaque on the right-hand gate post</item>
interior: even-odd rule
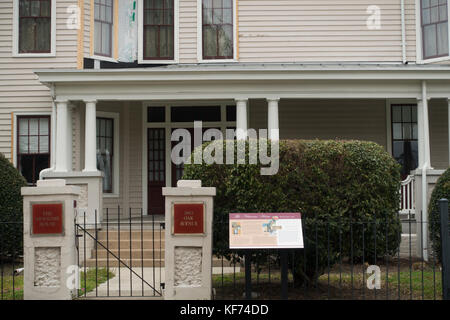
[[[173,234],[202,235],[205,233],[204,203],[173,204]]]

